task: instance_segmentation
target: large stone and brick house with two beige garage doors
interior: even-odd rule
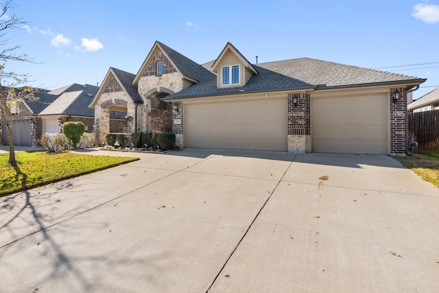
[[[405,94],[424,79],[312,58],[252,64],[227,43],[204,65],[156,41],[137,73],[110,67],[91,108],[186,148],[405,154]]]

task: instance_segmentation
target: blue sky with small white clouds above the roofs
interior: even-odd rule
[[[0,0],[4,3],[4,0]],[[32,86],[102,83],[109,67],[137,73],[155,40],[200,64],[228,41],[250,62],[301,57],[427,78],[439,86],[439,0],[64,1],[15,0],[29,22],[4,47],[36,63],[8,62]],[[410,65],[410,66],[409,66]]]

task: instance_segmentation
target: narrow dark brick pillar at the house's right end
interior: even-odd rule
[[[392,93],[395,89],[390,90],[390,154],[391,155],[405,155],[406,141],[405,141],[405,123],[407,117],[405,115],[405,91],[399,88],[401,95],[396,103],[392,101]]]

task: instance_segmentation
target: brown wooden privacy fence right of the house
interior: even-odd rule
[[[439,110],[409,113],[407,127],[419,149],[439,148]]]

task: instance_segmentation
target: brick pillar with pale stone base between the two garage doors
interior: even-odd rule
[[[293,94],[287,95],[288,152],[311,152],[311,97],[299,93],[297,106]]]

